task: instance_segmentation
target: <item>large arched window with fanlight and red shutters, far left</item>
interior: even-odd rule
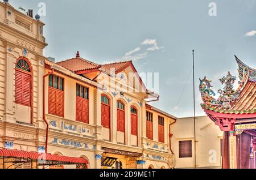
[[[31,106],[31,72],[28,59],[18,58],[15,65],[15,102],[17,104]]]

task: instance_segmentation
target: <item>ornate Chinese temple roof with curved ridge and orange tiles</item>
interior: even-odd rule
[[[200,92],[203,99],[201,107],[203,109],[225,114],[256,113],[256,70],[245,65],[237,57],[236,61],[240,78],[236,90],[233,89],[236,76],[232,76],[230,72],[220,79],[224,88],[218,90],[220,97],[217,99],[213,97],[216,94],[210,89],[212,87],[211,81],[206,78],[200,79]]]

